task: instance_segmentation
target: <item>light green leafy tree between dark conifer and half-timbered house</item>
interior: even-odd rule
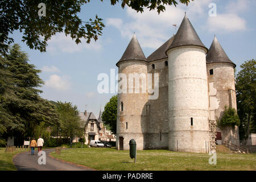
[[[73,106],[71,102],[57,102],[57,111],[60,114],[60,125],[56,125],[53,129],[59,129],[59,135],[65,138],[83,137],[84,124],[79,117],[77,106]]]

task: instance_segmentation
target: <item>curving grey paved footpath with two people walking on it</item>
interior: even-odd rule
[[[38,151],[35,150],[35,155],[31,155],[31,152],[22,152],[16,155],[13,159],[13,163],[18,171],[90,171],[88,167],[78,166],[63,162],[61,160],[54,159],[49,156],[49,153],[54,149],[43,149],[46,152],[46,164],[38,164]]]

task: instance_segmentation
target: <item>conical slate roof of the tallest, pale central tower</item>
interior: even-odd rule
[[[206,48],[201,42],[199,36],[196,34],[196,31],[186,14],[180,24],[177,34],[174,37],[174,41],[168,49],[179,46],[201,46]]]

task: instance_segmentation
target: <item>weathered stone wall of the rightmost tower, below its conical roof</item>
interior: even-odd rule
[[[213,75],[209,74],[213,69]],[[210,119],[220,121],[225,106],[237,109],[236,89],[234,84],[234,67],[229,63],[207,64],[209,98],[210,98]],[[213,115],[214,113],[214,115]],[[216,131],[221,132],[221,142],[230,141],[239,145],[238,126],[217,127]]]

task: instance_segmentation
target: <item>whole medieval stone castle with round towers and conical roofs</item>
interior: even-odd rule
[[[216,133],[222,143],[239,145],[237,126],[217,127],[225,106],[236,109],[234,68],[214,37],[208,49],[184,16],[176,35],[147,58],[135,35],[117,63],[118,73],[159,73],[159,97],[148,93],[119,93],[117,149],[168,148],[209,152]],[[220,137],[221,136],[221,137]]]

